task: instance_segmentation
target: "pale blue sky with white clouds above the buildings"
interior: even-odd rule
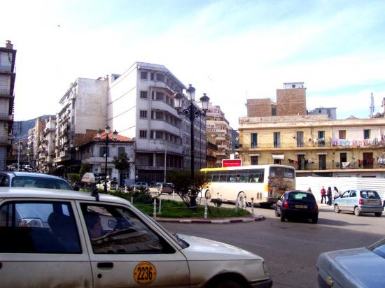
[[[376,112],[385,97],[385,1],[2,1],[16,55],[15,120],[55,115],[76,78],[162,64],[237,129],[246,99],[304,82],[307,109]]]

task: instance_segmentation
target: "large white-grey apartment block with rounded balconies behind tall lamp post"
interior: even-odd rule
[[[174,94],[186,89],[165,66],[135,62],[111,75],[108,123],[135,139],[137,180],[162,182],[165,172],[190,168],[190,120],[174,108]],[[183,106],[189,105],[184,99]],[[206,164],[205,118],[194,122],[195,168]]]

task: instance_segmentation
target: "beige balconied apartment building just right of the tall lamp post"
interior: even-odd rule
[[[225,113],[221,110],[221,106],[209,103],[209,109],[206,113],[207,134],[214,139],[217,145],[216,167],[222,167],[223,159],[230,159],[232,150],[230,124],[225,118]]]

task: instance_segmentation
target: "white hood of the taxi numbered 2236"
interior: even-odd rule
[[[262,257],[225,243],[178,234],[189,246],[182,250],[188,260],[262,260]]]

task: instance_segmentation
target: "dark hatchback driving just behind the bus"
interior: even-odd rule
[[[311,223],[318,222],[318,205],[314,195],[300,190],[289,190],[282,194],[276,202],[276,217],[285,219],[311,219]]]

